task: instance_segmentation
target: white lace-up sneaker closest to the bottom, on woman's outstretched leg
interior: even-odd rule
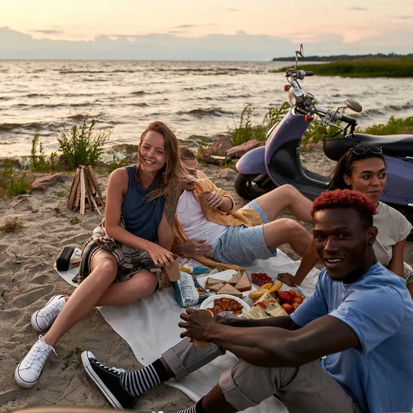
[[[43,339],[43,336],[40,335],[39,340],[34,343],[14,371],[14,379],[17,381],[17,384],[25,389],[32,388],[39,380],[41,370],[51,351],[56,354],[54,348],[49,346],[45,339]]]

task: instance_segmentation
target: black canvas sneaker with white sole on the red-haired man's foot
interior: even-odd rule
[[[91,351],[82,353],[82,362],[87,374],[96,383],[106,399],[116,409],[128,409],[136,402],[136,397],[127,392],[120,383],[120,377],[125,374],[122,368],[104,366],[99,363]]]

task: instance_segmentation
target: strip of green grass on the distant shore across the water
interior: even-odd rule
[[[336,61],[319,65],[299,65],[299,70],[312,70],[317,76],[343,77],[413,77],[413,59],[360,59]],[[286,67],[278,70],[285,72]]]

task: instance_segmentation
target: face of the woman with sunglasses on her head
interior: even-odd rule
[[[344,176],[354,191],[364,193],[376,206],[387,181],[385,164],[380,158],[357,160],[352,164],[351,176]]]

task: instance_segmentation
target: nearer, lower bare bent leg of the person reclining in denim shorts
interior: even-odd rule
[[[290,244],[291,248],[302,257],[313,241],[313,237],[304,226],[297,221],[281,218],[264,224],[264,240],[268,249],[274,251],[282,244]]]

